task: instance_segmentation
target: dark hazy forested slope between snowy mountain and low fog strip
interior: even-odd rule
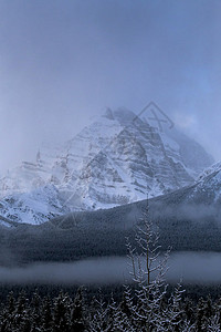
[[[159,228],[162,250],[221,251],[220,214],[215,207],[180,204],[185,189],[149,200],[149,215]],[[147,201],[107,210],[74,212],[40,226],[1,227],[0,262],[4,266],[75,261],[127,255]]]

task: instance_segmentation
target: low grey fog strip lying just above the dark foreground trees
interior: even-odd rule
[[[221,283],[221,253],[177,252],[168,261],[167,282]],[[70,263],[35,263],[0,268],[2,283],[126,283],[131,280],[126,257],[103,257]]]

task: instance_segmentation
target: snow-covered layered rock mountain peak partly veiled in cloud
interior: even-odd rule
[[[0,215],[41,224],[71,210],[109,208],[188,186],[213,159],[175,128],[107,110],[73,139],[41,148],[0,179]]]

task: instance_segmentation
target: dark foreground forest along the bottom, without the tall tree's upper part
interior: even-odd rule
[[[139,302],[137,289],[122,288],[119,295],[116,288],[106,297],[103,291],[90,298],[83,288],[72,294],[60,290],[54,297],[38,290],[9,292],[0,308],[0,331],[221,331],[221,298],[193,301],[182,290],[170,290],[150,310]]]

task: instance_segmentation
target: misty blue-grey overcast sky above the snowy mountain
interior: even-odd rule
[[[221,1],[0,0],[0,172],[155,101],[221,159]]]

